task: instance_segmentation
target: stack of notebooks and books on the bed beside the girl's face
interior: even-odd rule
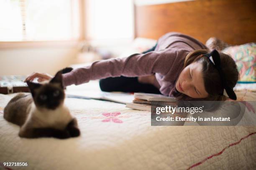
[[[134,93],[133,102],[127,103],[126,107],[136,110],[151,111],[152,106],[157,107],[175,105],[176,101],[177,98],[175,97],[150,93]]]

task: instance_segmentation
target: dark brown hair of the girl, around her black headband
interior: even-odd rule
[[[189,52],[185,58],[184,67],[191,64],[192,62],[202,63],[202,76],[204,79],[205,90],[209,94],[206,100],[225,100],[226,97],[223,95],[223,85],[220,80],[220,73],[215,66],[210,62],[208,57],[203,56],[209,53],[208,50],[194,50]],[[225,74],[225,79],[229,87],[233,88],[238,81],[238,69],[236,62],[229,55],[219,52],[221,68]]]

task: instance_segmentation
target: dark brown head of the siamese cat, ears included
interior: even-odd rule
[[[61,72],[46,84],[27,82],[36,107],[54,110],[64,102],[64,88]]]

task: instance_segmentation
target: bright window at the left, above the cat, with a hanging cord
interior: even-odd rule
[[[79,0],[1,0],[0,41],[77,40]]]

